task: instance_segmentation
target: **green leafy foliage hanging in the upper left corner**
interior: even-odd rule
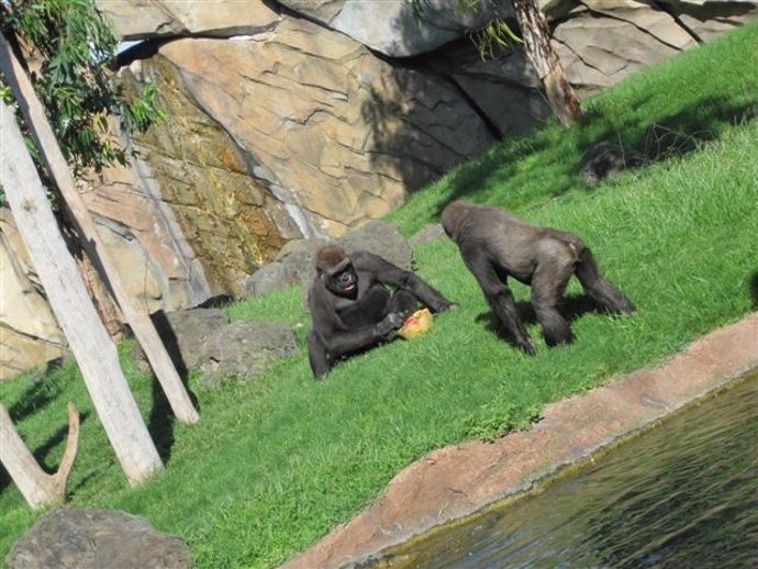
[[[126,152],[109,135],[109,116],[118,116],[127,134],[166,120],[154,86],[131,100],[125,97],[109,68],[119,41],[91,0],[0,2],[0,30],[24,62],[77,178],[109,164],[127,163]],[[12,101],[1,77],[0,97]]]

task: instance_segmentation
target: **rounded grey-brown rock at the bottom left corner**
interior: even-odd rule
[[[59,509],[12,547],[11,569],[189,569],[187,545],[118,510]]]

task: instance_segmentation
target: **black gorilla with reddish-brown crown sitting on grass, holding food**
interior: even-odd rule
[[[455,306],[413,272],[368,252],[347,255],[326,245],[316,253],[315,268],[308,355],[316,380],[339,359],[393,339],[420,302],[432,312]]]

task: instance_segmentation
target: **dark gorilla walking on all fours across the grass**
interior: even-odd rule
[[[502,210],[461,201],[445,208],[442,223],[458,244],[492,312],[528,354],[535,353],[534,343],[516,312],[509,277],[532,287],[532,304],[548,346],[573,342],[568,322],[558,312],[572,274],[601,308],[614,313],[635,311],[632,301],[603,278],[592,252],[577,235],[530,225]]]

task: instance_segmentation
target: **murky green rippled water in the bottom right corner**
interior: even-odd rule
[[[375,568],[758,568],[758,372]]]

